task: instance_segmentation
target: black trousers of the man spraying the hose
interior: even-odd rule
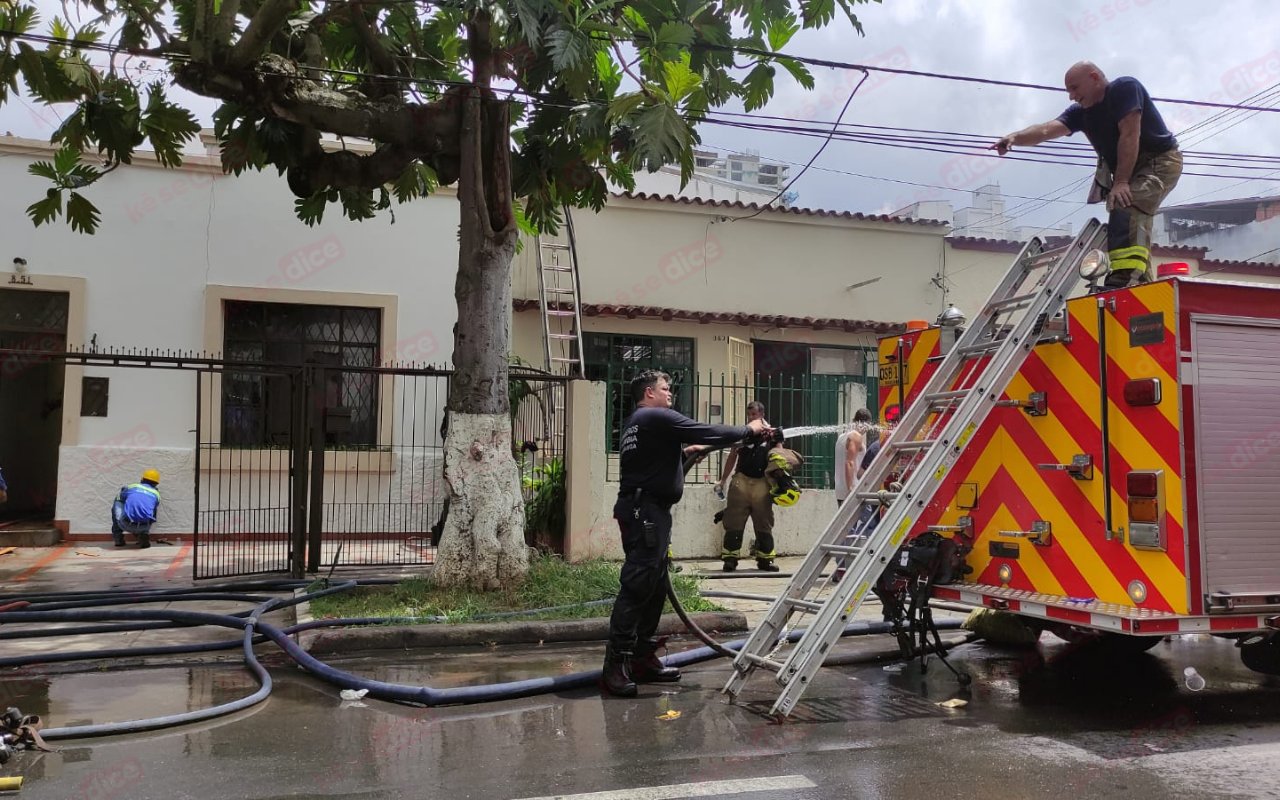
[[[641,499],[618,499],[613,518],[622,532],[621,586],[609,616],[609,646],[635,653],[652,646],[667,600],[667,548],[671,545],[671,506]]]

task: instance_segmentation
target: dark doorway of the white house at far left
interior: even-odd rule
[[[0,289],[0,470],[9,502],[0,520],[50,521],[58,500],[58,449],[63,440],[61,360],[31,353],[67,349],[68,294]]]

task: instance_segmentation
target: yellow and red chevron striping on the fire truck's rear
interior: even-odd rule
[[[1110,486],[1102,480],[1102,388],[1100,387],[1100,330],[1097,298],[1068,303],[1065,343],[1041,344],[1010,381],[1006,399],[1025,401],[1044,392],[1048,413],[1027,415],[1020,408],[992,411],[973,442],[961,453],[933,502],[918,521],[916,532],[929,525],[954,525],[960,516],[974,521],[977,543],[969,556],[975,584],[1024,590],[1037,595],[1140,608],[1152,613],[1188,614],[1188,543],[1184,531],[1183,465],[1178,407],[1178,320],[1175,287],[1161,282],[1107,296],[1105,306],[1107,349]],[[1162,315],[1157,317],[1155,315]],[[1142,317],[1149,344],[1130,342],[1130,320]],[[1155,333],[1152,337],[1152,325]],[[1160,330],[1160,325],[1164,330]],[[932,334],[927,337],[925,334]],[[908,402],[937,366],[937,329],[908,334]],[[1161,335],[1162,334],[1162,335]],[[914,337],[914,338],[913,338]],[[897,349],[897,338],[881,344],[881,364]],[[933,361],[931,361],[931,357]],[[1160,379],[1161,402],[1129,406],[1124,388],[1133,379]],[[897,384],[881,384],[881,407],[897,402]],[[1076,454],[1093,460],[1092,480],[1076,480],[1062,470],[1041,465],[1070,463]],[[1130,470],[1161,470],[1165,494],[1164,552],[1134,548],[1128,536],[1108,538],[1103,522],[1105,492],[1111,494],[1111,529],[1129,529],[1126,475]],[[961,484],[977,486],[977,506],[960,508]],[[1009,532],[1029,531],[1036,521],[1051,525],[1047,545]],[[992,554],[992,544],[1000,545]],[[1016,557],[1009,556],[1016,548]],[[1001,581],[1001,566],[1011,568]],[[1140,603],[1130,598],[1135,581],[1146,588]],[[1198,604],[1198,600],[1197,600]]]

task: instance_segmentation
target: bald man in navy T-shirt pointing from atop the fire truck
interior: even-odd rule
[[[1135,78],[1107,81],[1102,70],[1080,61],[1066,70],[1071,105],[1057,119],[1023,128],[992,146],[1000,155],[1015,145],[1039,145],[1083,131],[1098,154],[1089,202],[1106,201],[1106,288],[1149,279],[1151,228],[1160,204],[1183,174],[1178,140]]]

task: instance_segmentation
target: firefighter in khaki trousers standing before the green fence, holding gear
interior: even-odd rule
[[[751,401],[746,404],[746,421],[759,420],[765,426],[764,403]],[[726,495],[724,515],[724,540],[721,549],[721,559],[724,562],[724,572],[737,570],[737,559],[742,550],[742,538],[746,535],[746,521],[751,520],[751,530],[755,534],[755,544],[751,545],[751,554],[755,557],[755,566],[764,572],[777,572],[773,563],[777,552],[773,548],[773,497],[772,481],[765,476],[769,468],[769,453],[773,442],[753,439],[735,447],[724,467],[721,470],[721,492]],[[732,480],[730,480],[732,476]],[[724,492],[724,484],[728,490]]]

